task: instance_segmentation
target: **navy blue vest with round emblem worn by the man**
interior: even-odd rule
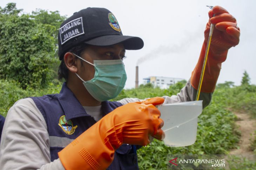
[[[75,139],[90,126],[96,123],[94,118],[86,113],[78,99],[76,99],[72,91],[66,86],[66,83],[63,83],[60,94],[31,98],[45,118],[50,137],[57,136],[63,140],[66,138]],[[103,116],[121,105],[122,104],[119,102],[102,102],[101,109]],[[63,123],[63,119],[62,121],[60,120],[60,118],[63,116],[66,118],[66,124]],[[51,161],[59,158],[58,152],[62,149],[63,147],[50,147]],[[117,149],[115,151],[114,161],[108,167],[108,169],[139,169],[136,146],[124,144]]]

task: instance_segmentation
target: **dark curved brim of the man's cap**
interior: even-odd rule
[[[139,50],[144,46],[144,42],[140,37],[122,36],[122,35],[105,35],[93,38],[85,42],[89,45],[109,46],[123,43],[126,50]]]

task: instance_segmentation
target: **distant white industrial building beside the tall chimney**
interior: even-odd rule
[[[178,81],[185,80],[174,77],[158,77],[158,76],[150,76],[148,78],[143,79],[143,84],[152,83],[154,87],[160,87],[161,89],[169,88],[171,84],[175,84]]]

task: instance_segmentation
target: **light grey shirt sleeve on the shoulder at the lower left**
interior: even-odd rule
[[[1,170],[65,170],[50,161],[47,125],[31,98],[20,99],[8,111],[0,144]]]

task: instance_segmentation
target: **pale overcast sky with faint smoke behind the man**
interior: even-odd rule
[[[139,64],[139,81],[149,76],[177,77],[188,80],[201,51],[209,6],[219,5],[237,19],[241,29],[240,44],[232,47],[217,83],[233,81],[240,85],[246,70],[256,84],[256,1],[255,0],[1,0],[3,8],[15,2],[18,9],[31,13],[36,8],[58,10],[71,16],[87,7],[104,7],[117,18],[123,35],[144,40],[141,50],[127,51],[124,60],[126,88],[135,86],[135,66]],[[145,57],[148,56],[148,57]]]

